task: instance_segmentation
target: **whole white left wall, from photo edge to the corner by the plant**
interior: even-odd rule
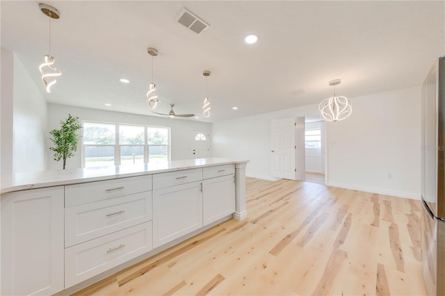
[[[36,69],[38,70],[38,69]],[[1,174],[45,170],[47,103],[22,63],[1,49]]]

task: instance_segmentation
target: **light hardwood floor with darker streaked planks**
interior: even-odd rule
[[[229,220],[76,295],[425,295],[421,203],[247,180]]]

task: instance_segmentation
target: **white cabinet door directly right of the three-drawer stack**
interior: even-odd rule
[[[201,227],[201,182],[153,190],[154,248]]]

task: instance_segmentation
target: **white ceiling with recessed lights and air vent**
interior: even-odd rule
[[[346,97],[420,85],[445,54],[444,1],[44,1],[60,11],[51,55],[62,76],[48,94],[38,65],[48,54],[49,18],[38,3],[1,1],[1,47],[56,104],[152,115],[147,47],[159,50],[156,111],[175,103],[177,113],[203,120],[208,69],[211,122],[317,104],[332,95],[332,79]],[[178,24],[183,7],[207,31]],[[257,44],[245,44],[248,33],[259,35]]]

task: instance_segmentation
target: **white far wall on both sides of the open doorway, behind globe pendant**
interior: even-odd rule
[[[420,87],[350,99],[352,115],[326,124],[327,185],[419,198]],[[248,176],[273,180],[270,121],[317,113],[312,105],[216,122],[212,156],[248,159]]]

